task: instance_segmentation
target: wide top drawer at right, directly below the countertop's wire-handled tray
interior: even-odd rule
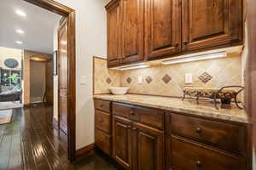
[[[197,139],[224,150],[246,150],[246,129],[230,123],[172,114],[172,133]]]

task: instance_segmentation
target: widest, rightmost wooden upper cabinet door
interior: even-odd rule
[[[241,0],[183,0],[183,50],[242,41]]]

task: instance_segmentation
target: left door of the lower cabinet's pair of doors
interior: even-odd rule
[[[113,157],[126,169],[131,169],[131,121],[113,116]]]

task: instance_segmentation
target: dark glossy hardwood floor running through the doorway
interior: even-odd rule
[[[119,169],[98,152],[70,164],[65,141],[53,127],[51,106],[14,109],[11,123],[0,125],[0,170]]]

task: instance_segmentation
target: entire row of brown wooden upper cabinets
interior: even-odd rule
[[[243,42],[245,0],[112,0],[108,67]]]

